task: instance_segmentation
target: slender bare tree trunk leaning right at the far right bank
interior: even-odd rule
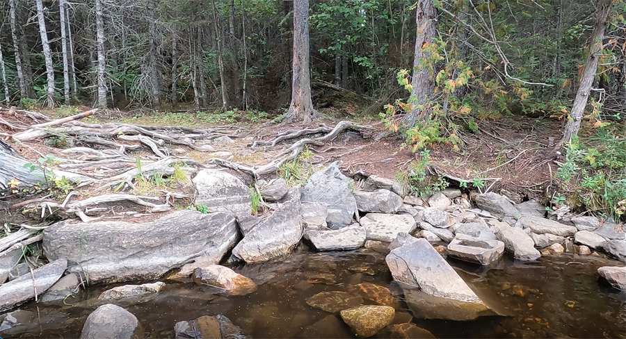
[[[593,31],[591,32],[591,42],[589,43],[589,55],[587,56],[587,62],[585,68],[580,76],[580,83],[574,104],[570,116],[568,117],[568,123],[565,124],[565,131],[563,131],[563,138],[556,144],[557,148],[563,147],[563,144],[570,142],[573,136],[578,134],[580,129],[580,122],[589,99],[589,93],[591,92],[591,85],[595,78],[595,72],[597,72],[597,62],[600,59],[600,51],[602,51],[602,40],[604,40],[604,28],[607,28],[607,21],[609,20],[609,12],[611,11],[611,0],[600,0],[597,8],[597,19]]]

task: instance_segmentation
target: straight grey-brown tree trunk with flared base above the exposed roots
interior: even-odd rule
[[[309,69],[309,0],[294,1],[294,58],[291,71],[291,104],[284,122],[312,123],[319,113],[311,99]]]

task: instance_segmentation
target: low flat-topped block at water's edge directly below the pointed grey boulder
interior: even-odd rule
[[[305,238],[318,251],[337,251],[363,247],[366,231],[360,224],[346,226],[335,231],[307,231]]]

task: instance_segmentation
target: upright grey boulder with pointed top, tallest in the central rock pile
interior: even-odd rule
[[[303,203],[322,202],[328,206],[326,222],[347,226],[356,213],[353,195],[354,181],[339,170],[339,163],[315,172],[302,190]]]

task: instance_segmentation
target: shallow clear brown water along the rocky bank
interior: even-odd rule
[[[319,322],[331,314],[308,306],[305,299],[322,291],[346,290],[350,284],[376,283],[392,290],[398,300],[396,313],[410,313],[384,259],[371,249],[315,253],[299,247],[280,263],[233,267],[259,284],[251,295],[220,297],[191,283],[170,283],[148,301],[120,306],[136,315],[150,338],[173,338],[176,322],[216,314],[226,315],[254,338],[354,338],[341,321]],[[490,303],[511,316],[412,320],[437,338],[626,338],[626,296],[600,283],[596,271],[620,263],[572,254],[544,256],[533,263],[505,258],[490,268],[448,261],[474,290],[487,292]],[[336,283],[307,282],[320,272],[335,275]],[[2,336],[78,338],[86,317],[98,306],[93,300],[109,287],[90,288],[71,301],[73,306],[26,304],[21,309],[38,317],[19,333]]]

